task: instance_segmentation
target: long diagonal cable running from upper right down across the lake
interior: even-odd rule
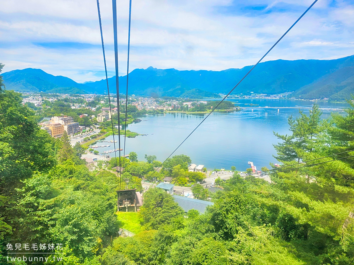
[[[216,107],[213,108],[213,109],[211,110],[211,112],[209,112],[209,114],[198,124],[198,126],[195,127],[195,129],[192,131],[192,133],[190,133],[190,134],[182,141],[182,143],[181,143],[179,146],[177,146],[177,148],[176,148],[176,149],[169,155],[169,157],[167,157],[166,160],[154,171],[154,173],[167,161],[167,159],[169,159],[169,158],[171,157],[171,155],[173,155],[173,154],[177,151],[177,149],[185,142],[185,140],[187,140],[187,139],[189,138],[189,136],[191,136],[191,135],[194,133],[194,131],[195,131],[196,129],[198,129],[198,127],[210,116],[211,113],[213,113],[214,110],[216,110],[216,108],[221,104],[221,102],[223,102],[223,101],[227,98],[227,96],[229,96],[229,95],[231,94],[231,92],[234,91],[234,89],[246,78],[246,76],[248,76],[249,73],[250,73],[253,69],[255,69],[255,67],[263,60],[263,58],[264,58],[265,56],[267,56],[270,51],[272,51],[272,49],[279,43],[279,41],[281,41],[281,39],[296,25],[297,22],[299,22],[299,20],[311,9],[311,7],[313,7],[314,4],[316,4],[317,1],[318,1],[318,0],[315,0],[315,1],[307,8],[307,10],[302,13],[302,15],[291,25],[291,27],[290,27],[287,31],[285,31],[285,33],[279,38],[279,40],[274,43],[274,45],[268,50],[268,52],[266,52],[266,53],[262,56],[262,58],[259,59],[259,61],[258,61],[255,65],[253,65],[253,67],[251,68],[251,70],[248,71],[244,77],[242,77],[242,79],[236,84],[236,86],[234,86],[233,89],[230,90],[230,92],[229,92],[226,96],[224,96],[224,98],[219,102],[219,104],[216,105]]]

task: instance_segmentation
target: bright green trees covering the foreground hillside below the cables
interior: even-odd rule
[[[4,89],[0,77],[1,263],[43,264],[7,261],[9,245],[53,242],[62,244],[54,250],[62,260],[47,254],[48,263],[59,265],[353,264],[354,103],[349,102],[344,117],[321,120],[316,105],[308,115],[289,117],[290,133],[276,134],[275,149],[284,166],[293,166],[271,174],[271,184],[235,173],[210,194],[214,204],[204,214],[184,213],[171,195],[150,188],[135,219],[137,234],[117,237],[126,224],[116,214],[120,181],[110,170],[115,160],[106,170],[101,164],[90,171],[80,159],[83,148],[72,148],[65,134],[54,140],[40,130],[34,112],[21,104],[19,93]],[[171,176],[180,184],[198,180],[187,171],[187,155],[170,158],[156,173],[161,162],[145,158],[148,162],[133,154],[122,158],[128,188],[142,190],[142,177]]]

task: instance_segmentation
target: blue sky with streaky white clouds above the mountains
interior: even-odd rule
[[[130,70],[223,70],[252,65],[312,3],[307,0],[132,0]],[[112,1],[101,0],[109,76]],[[77,82],[104,78],[95,0],[0,0],[4,71],[40,68]],[[129,0],[118,1],[119,73],[126,74]],[[354,0],[319,0],[265,58],[354,54]]]

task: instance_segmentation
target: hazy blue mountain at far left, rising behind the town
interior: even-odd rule
[[[90,87],[65,76],[53,76],[41,69],[27,68],[3,73],[6,89],[19,92],[85,94]]]

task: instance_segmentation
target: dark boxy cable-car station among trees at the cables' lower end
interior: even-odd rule
[[[117,190],[117,195],[119,212],[137,212],[143,205],[142,196],[136,189]]]

